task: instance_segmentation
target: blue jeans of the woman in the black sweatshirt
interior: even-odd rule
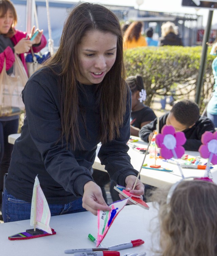
[[[4,190],[2,199],[2,217],[4,222],[30,219],[31,204],[20,200]],[[82,197],[68,204],[49,204],[51,216],[86,211],[82,207]]]

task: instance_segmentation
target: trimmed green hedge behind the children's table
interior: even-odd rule
[[[208,47],[200,105],[210,97],[214,84],[212,61],[215,57],[209,54],[210,50],[211,47]],[[143,77],[147,106],[151,105],[155,95],[175,94],[175,99],[195,99],[201,53],[201,46],[129,49],[125,54],[126,76],[139,74]]]

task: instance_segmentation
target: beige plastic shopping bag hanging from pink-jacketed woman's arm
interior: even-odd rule
[[[16,115],[24,110],[21,92],[27,80],[25,68],[17,54],[11,75],[6,73],[6,60],[4,60],[0,74],[0,116]]]

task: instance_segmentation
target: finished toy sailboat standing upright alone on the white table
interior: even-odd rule
[[[30,225],[34,226],[33,229],[27,229],[26,232],[18,233],[13,236],[9,236],[9,240],[24,240],[30,238],[37,238],[43,236],[55,235],[54,229],[50,228],[51,212],[47,204],[47,200],[40,187],[38,177],[35,178]]]

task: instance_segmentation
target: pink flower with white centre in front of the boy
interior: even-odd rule
[[[165,159],[181,158],[184,155],[182,147],[186,142],[184,132],[176,132],[171,125],[164,125],[161,133],[156,135],[155,141],[160,148],[160,155]]]

